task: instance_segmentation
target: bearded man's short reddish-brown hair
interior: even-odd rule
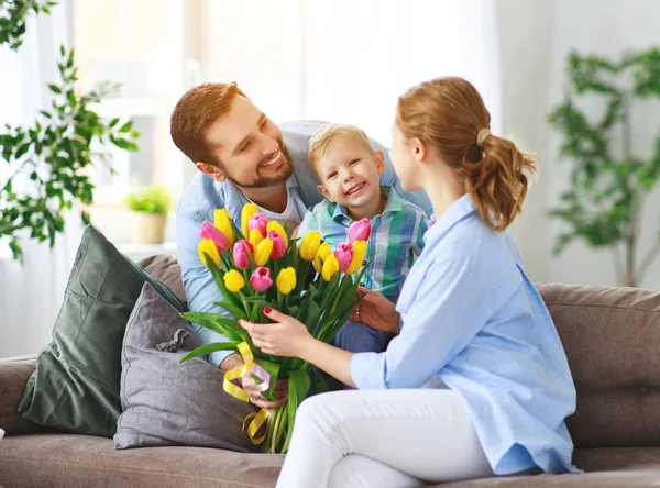
[[[215,160],[213,148],[206,135],[210,126],[229,112],[237,96],[245,97],[235,82],[204,84],[186,91],[177,102],[169,119],[169,134],[174,144],[193,163]]]

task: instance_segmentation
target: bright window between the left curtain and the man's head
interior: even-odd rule
[[[169,114],[184,87],[184,0],[74,0],[74,46],[79,85],[122,84],[100,103],[107,118],[130,118],[140,151],[111,151],[112,176],[94,175],[98,206],[118,206],[134,185],[157,181],[175,196],[185,185],[184,156],[169,137]]]

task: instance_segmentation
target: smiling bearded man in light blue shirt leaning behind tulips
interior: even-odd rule
[[[237,84],[205,84],[178,101],[172,113],[172,138],[200,171],[176,208],[178,259],[190,310],[223,312],[212,304],[222,297],[197,252],[197,231],[204,222],[213,221],[216,209],[224,207],[240,225],[241,210],[252,201],[270,220],[282,223],[288,220],[293,230],[301,222],[306,209],[321,201],[307,160],[308,140],[321,125],[322,122],[302,121],[278,127]],[[374,143],[374,148],[383,146]],[[431,206],[426,195],[406,193],[389,158],[385,165],[381,185],[393,186],[403,198],[428,213]],[[227,341],[211,330],[198,325],[194,329],[204,344]],[[209,355],[209,363],[228,371],[242,365],[243,359],[238,354],[219,351]],[[250,375],[241,382],[257,407],[275,408],[286,400],[285,381],[275,391],[276,402],[265,400],[252,389],[255,385]]]

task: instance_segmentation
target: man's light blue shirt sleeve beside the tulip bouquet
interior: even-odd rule
[[[182,278],[186,298],[188,299],[188,310],[193,312],[222,313],[231,317],[227,310],[213,304],[215,301],[223,301],[222,293],[218,289],[211,273],[201,264],[197,246],[199,244],[198,229],[202,222],[198,222],[191,215],[183,211],[176,213],[176,237],[177,254],[182,266]],[[195,335],[202,344],[211,342],[227,342],[228,339],[210,329],[202,328],[199,324],[191,324]],[[216,351],[209,354],[208,362],[216,367],[224,361],[227,356],[233,354],[232,351]]]

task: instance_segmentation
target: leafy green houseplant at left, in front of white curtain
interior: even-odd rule
[[[48,13],[54,4],[10,1],[10,15],[0,16],[0,45],[18,49],[28,12]],[[106,164],[113,171],[107,147],[138,151],[140,133],[132,122],[103,120],[95,111],[95,104],[119,86],[105,82],[79,92],[74,51],[61,46],[59,54],[61,80],[48,85],[51,107],[38,113],[32,126],[6,124],[0,129],[0,175],[7,175],[0,177],[0,239],[9,244],[14,258],[22,255],[20,237],[48,240],[52,247],[57,233],[64,231],[65,212],[76,202],[92,203],[90,169]],[[89,222],[85,212],[81,218]]]

